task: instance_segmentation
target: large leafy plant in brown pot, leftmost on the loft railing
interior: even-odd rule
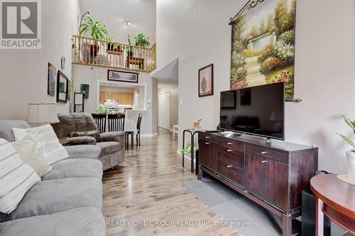
[[[90,44],[90,55],[97,55],[99,52],[98,40],[105,40],[108,35],[107,28],[102,21],[94,21],[90,16],[87,16],[87,21],[81,25],[80,35],[90,32],[93,44]]]

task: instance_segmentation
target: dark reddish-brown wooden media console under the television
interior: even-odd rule
[[[207,173],[270,210],[283,220],[283,235],[292,235],[292,220],[301,215],[302,190],[318,168],[318,148],[248,135],[199,134],[199,179]]]

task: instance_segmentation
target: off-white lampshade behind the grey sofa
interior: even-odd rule
[[[58,123],[55,103],[29,103],[30,113],[28,123],[31,125],[46,125]]]

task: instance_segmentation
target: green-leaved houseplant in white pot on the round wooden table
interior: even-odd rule
[[[350,128],[353,130],[355,134],[355,120],[351,120],[347,118],[346,116],[343,116],[344,121],[347,125],[350,126]],[[348,168],[348,177],[351,179],[351,181],[355,182],[355,143],[351,141],[349,137],[346,137],[345,135],[339,134],[340,137],[343,138],[345,142],[347,142],[352,149],[346,151],[346,162],[347,162],[347,168]]]

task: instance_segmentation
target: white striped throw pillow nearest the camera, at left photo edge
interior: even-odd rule
[[[15,210],[28,189],[40,182],[40,177],[23,162],[10,142],[0,138],[0,212]]]

